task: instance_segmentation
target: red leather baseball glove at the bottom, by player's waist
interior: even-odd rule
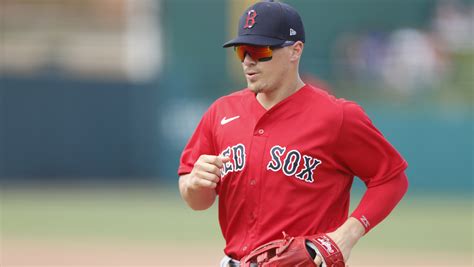
[[[266,243],[243,257],[240,266],[262,267],[315,267],[314,258],[320,255],[323,264],[318,267],[344,267],[344,258],[336,243],[325,234],[290,237]]]

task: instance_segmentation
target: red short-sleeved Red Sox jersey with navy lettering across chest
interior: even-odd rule
[[[218,99],[178,174],[190,173],[202,154],[231,158],[216,190],[224,251],[234,259],[282,231],[335,230],[348,218],[354,176],[376,186],[407,167],[357,104],[309,85],[269,110],[249,89]]]

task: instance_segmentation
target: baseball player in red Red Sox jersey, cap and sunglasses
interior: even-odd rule
[[[213,205],[221,266],[344,266],[405,194],[407,163],[363,109],[305,84],[305,31],[279,2],[250,6],[225,43],[248,88],[215,101],[182,152],[182,198]],[[367,190],[349,215],[354,177]]]

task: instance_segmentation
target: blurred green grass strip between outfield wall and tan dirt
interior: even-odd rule
[[[176,188],[4,189],[0,211],[4,247],[11,240],[210,247],[224,243],[217,209],[190,210]],[[472,259],[472,242],[470,195],[408,194],[359,242],[353,255],[398,251]]]

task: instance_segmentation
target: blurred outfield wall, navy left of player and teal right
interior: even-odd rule
[[[0,176],[8,181],[172,182],[180,150],[212,101],[176,102],[183,108],[202,104],[188,112],[197,112],[194,117],[176,116],[182,124],[173,126],[167,123],[176,107],[160,97],[158,86],[45,80],[4,85]],[[406,157],[412,189],[472,188],[472,115],[429,106],[407,111],[362,105]]]

